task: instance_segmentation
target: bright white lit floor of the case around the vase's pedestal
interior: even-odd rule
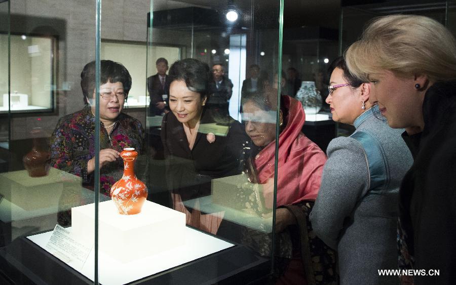
[[[66,229],[71,230],[70,227]],[[51,234],[52,231],[49,231],[31,235],[27,238],[43,248],[43,250],[46,250],[45,247]],[[137,259],[129,263],[121,263],[99,251],[99,282],[101,284],[109,285],[126,284],[234,246],[232,243],[189,227],[184,227],[184,233],[180,238],[183,240],[183,245],[180,247],[175,247],[168,251]],[[105,242],[105,240],[100,239],[99,243],[101,244],[103,242]],[[132,250],[142,251],[147,247],[160,247],[161,245],[155,245],[141,236],[138,236],[130,243],[119,246],[126,246],[130,247]],[[93,249],[82,269],[75,268],[74,263],[71,261],[67,264],[90,280],[94,280],[95,258]],[[56,274],[58,274],[58,272],[56,272]]]

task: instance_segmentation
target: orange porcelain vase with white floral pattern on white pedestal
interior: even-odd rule
[[[121,157],[124,159],[124,175],[111,187],[111,199],[122,215],[134,215],[141,212],[147,198],[147,187],[136,178],[134,165],[138,153],[134,148],[124,148]]]

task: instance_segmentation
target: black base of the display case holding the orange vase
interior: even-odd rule
[[[247,284],[265,278],[270,268],[269,259],[237,245],[131,284]],[[0,281],[2,278],[6,284],[93,283],[26,237],[0,249]]]

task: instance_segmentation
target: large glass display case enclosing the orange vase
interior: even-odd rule
[[[0,1],[0,282],[271,278],[291,258],[275,234],[291,203],[276,194],[282,11]]]

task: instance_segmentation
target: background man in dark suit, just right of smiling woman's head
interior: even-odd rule
[[[207,107],[212,110],[214,118],[223,118],[229,115],[231,95],[233,95],[233,83],[225,77],[223,65],[216,63],[212,66],[213,80],[209,85],[209,98]]]

